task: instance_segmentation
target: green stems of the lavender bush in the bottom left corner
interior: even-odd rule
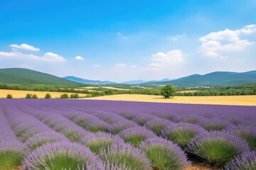
[[[21,165],[23,154],[14,150],[0,152],[0,169],[17,169]]]

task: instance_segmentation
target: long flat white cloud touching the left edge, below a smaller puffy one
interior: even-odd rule
[[[43,57],[37,55],[28,55],[21,52],[0,52],[0,58],[9,58],[9,59],[22,59],[22,60],[38,60],[45,62],[64,62],[65,59],[59,55],[54,54],[53,52],[46,52]]]

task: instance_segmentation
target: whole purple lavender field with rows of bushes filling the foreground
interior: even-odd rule
[[[256,107],[0,99],[0,169],[256,169]]]

